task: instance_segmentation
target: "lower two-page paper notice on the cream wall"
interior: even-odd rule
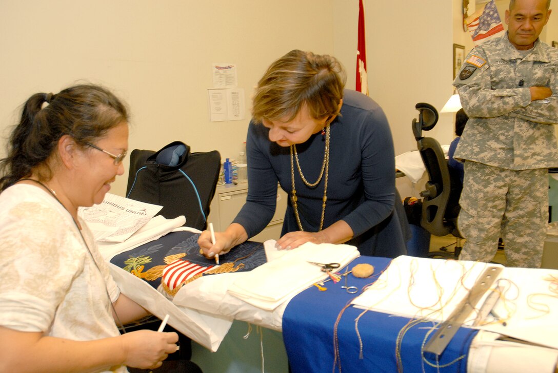
[[[245,116],[244,90],[242,88],[208,89],[209,120],[242,120]]]

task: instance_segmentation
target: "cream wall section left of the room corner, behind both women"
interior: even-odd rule
[[[131,107],[131,149],[181,140],[193,151],[236,157],[259,76],[291,49],[333,54],[333,28],[324,26],[332,20],[323,0],[2,1],[1,125],[31,94],[86,79]],[[209,122],[213,62],[238,65],[246,120]],[[124,193],[125,179],[113,192]]]

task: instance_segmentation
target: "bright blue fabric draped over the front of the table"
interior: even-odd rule
[[[335,322],[344,306],[358,296],[362,288],[374,282],[388,267],[391,259],[359,256],[349,264],[369,263],[374,266],[374,277],[367,279],[349,275],[348,286],[356,286],[359,292],[349,294],[341,289],[344,280],[324,284],[328,290],[311,287],[298,294],[287,305],[283,313],[283,341],[293,373],[310,372],[397,372],[396,343],[402,328],[410,321],[405,317],[382,312],[367,311],[360,317],[358,332],[363,343],[363,359],[359,359],[360,345],[355,319],[363,309],[348,307],[343,312],[338,327],[338,360],[341,365],[334,369]],[[343,273],[345,269],[340,269]],[[400,356],[403,372],[462,372],[466,373],[467,353],[477,330],[460,328],[448,347],[439,357],[440,368],[430,366],[421,359],[422,344],[430,331],[432,322],[419,323],[401,339]],[[430,337],[434,331],[430,332]],[[425,353],[428,361],[435,364],[435,355]],[[461,359],[460,359],[461,357]],[[457,359],[457,360],[456,360]],[[452,364],[450,364],[452,363]],[[450,364],[448,366],[444,366]]]

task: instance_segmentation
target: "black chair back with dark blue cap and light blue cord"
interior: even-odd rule
[[[163,206],[167,219],[186,217],[185,226],[204,230],[221,167],[218,151],[190,152],[175,141],[159,151],[134,149],[126,197]]]

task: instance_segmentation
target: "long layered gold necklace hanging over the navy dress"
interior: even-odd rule
[[[301,231],[304,231],[304,229],[302,228],[302,224],[300,222],[299,209],[298,209],[298,204],[297,204],[297,199],[298,198],[296,197],[295,159],[296,159],[296,168],[299,170],[300,178],[302,179],[302,182],[304,182],[307,187],[310,187],[310,188],[315,187],[316,185],[318,185],[320,183],[322,177],[324,177],[324,175],[325,175],[325,177],[324,177],[324,197],[322,198],[322,205],[321,205],[320,229],[318,229],[318,231],[321,231],[322,228],[324,227],[325,202],[328,199],[327,194],[328,194],[328,173],[329,173],[329,123],[325,128],[324,162],[322,162],[322,164],[321,164],[320,176],[318,176],[318,180],[316,180],[316,182],[310,183],[306,180],[306,178],[302,174],[302,169],[300,168],[299,154],[296,152],[296,145],[295,144],[291,145],[291,184],[292,184],[291,201],[292,201],[292,207],[295,210],[296,222],[299,224],[299,229]]]

